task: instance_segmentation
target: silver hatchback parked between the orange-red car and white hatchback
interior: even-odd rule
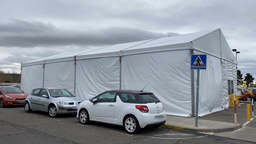
[[[26,98],[25,112],[38,110],[57,117],[58,114],[77,113],[77,106],[82,101],[66,89],[34,88]]]

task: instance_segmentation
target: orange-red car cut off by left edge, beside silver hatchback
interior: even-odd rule
[[[24,105],[27,94],[19,88],[0,86],[0,107]]]

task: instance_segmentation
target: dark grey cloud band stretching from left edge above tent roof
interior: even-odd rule
[[[57,29],[51,23],[27,22],[12,19],[13,23],[0,24],[0,46],[36,47],[67,45],[112,45],[178,35],[178,33],[155,33],[138,28],[108,27],[89,30]]]

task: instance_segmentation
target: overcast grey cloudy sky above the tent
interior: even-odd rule
[[[0,69],[59,53],[221,28],[256,78],[255,0],[2,0]],[[235,55],[235,53],[234,53]]]

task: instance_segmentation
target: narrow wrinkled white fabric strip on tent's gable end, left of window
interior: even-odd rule
[[[227,61],[221,61],[222,67],[222,107],[228,109],[228,76],[227,76]]]

